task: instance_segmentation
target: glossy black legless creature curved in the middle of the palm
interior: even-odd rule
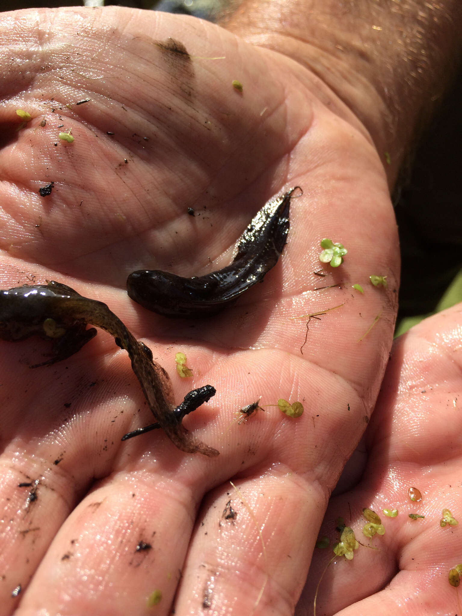
[[[205,276],[183,278],[161,270],[138,270],[127,279],[129,296],[165,317],[200,318],[222,310],[261,282],[279,259],[289,232],[291,188],[265,203],[237,241],[233,262]]]

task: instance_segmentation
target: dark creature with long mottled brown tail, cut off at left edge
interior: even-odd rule
[[[39,334],[53,341],[51,359],[32,368],[60,362],[79,351],[96,335],[94,327],[87,330],[87,324],[110,333],[116,344],[129,354],[132,369],[157,421],[135,433],[142,434],[160,426],[183,452],[217,456],[216,449],[193,439],[181,423],[187,413],[211,398],[215,389],[208,385],[189,392],[184,402],[175,408],[168,374],[153,361],[152,351],[134,338],[106,304],[84,298],[69,286],[53,281],[47,285],[25,285],[0,291],[0,339],[17,341]],[[129,434],[135,436],[135,433]]]

